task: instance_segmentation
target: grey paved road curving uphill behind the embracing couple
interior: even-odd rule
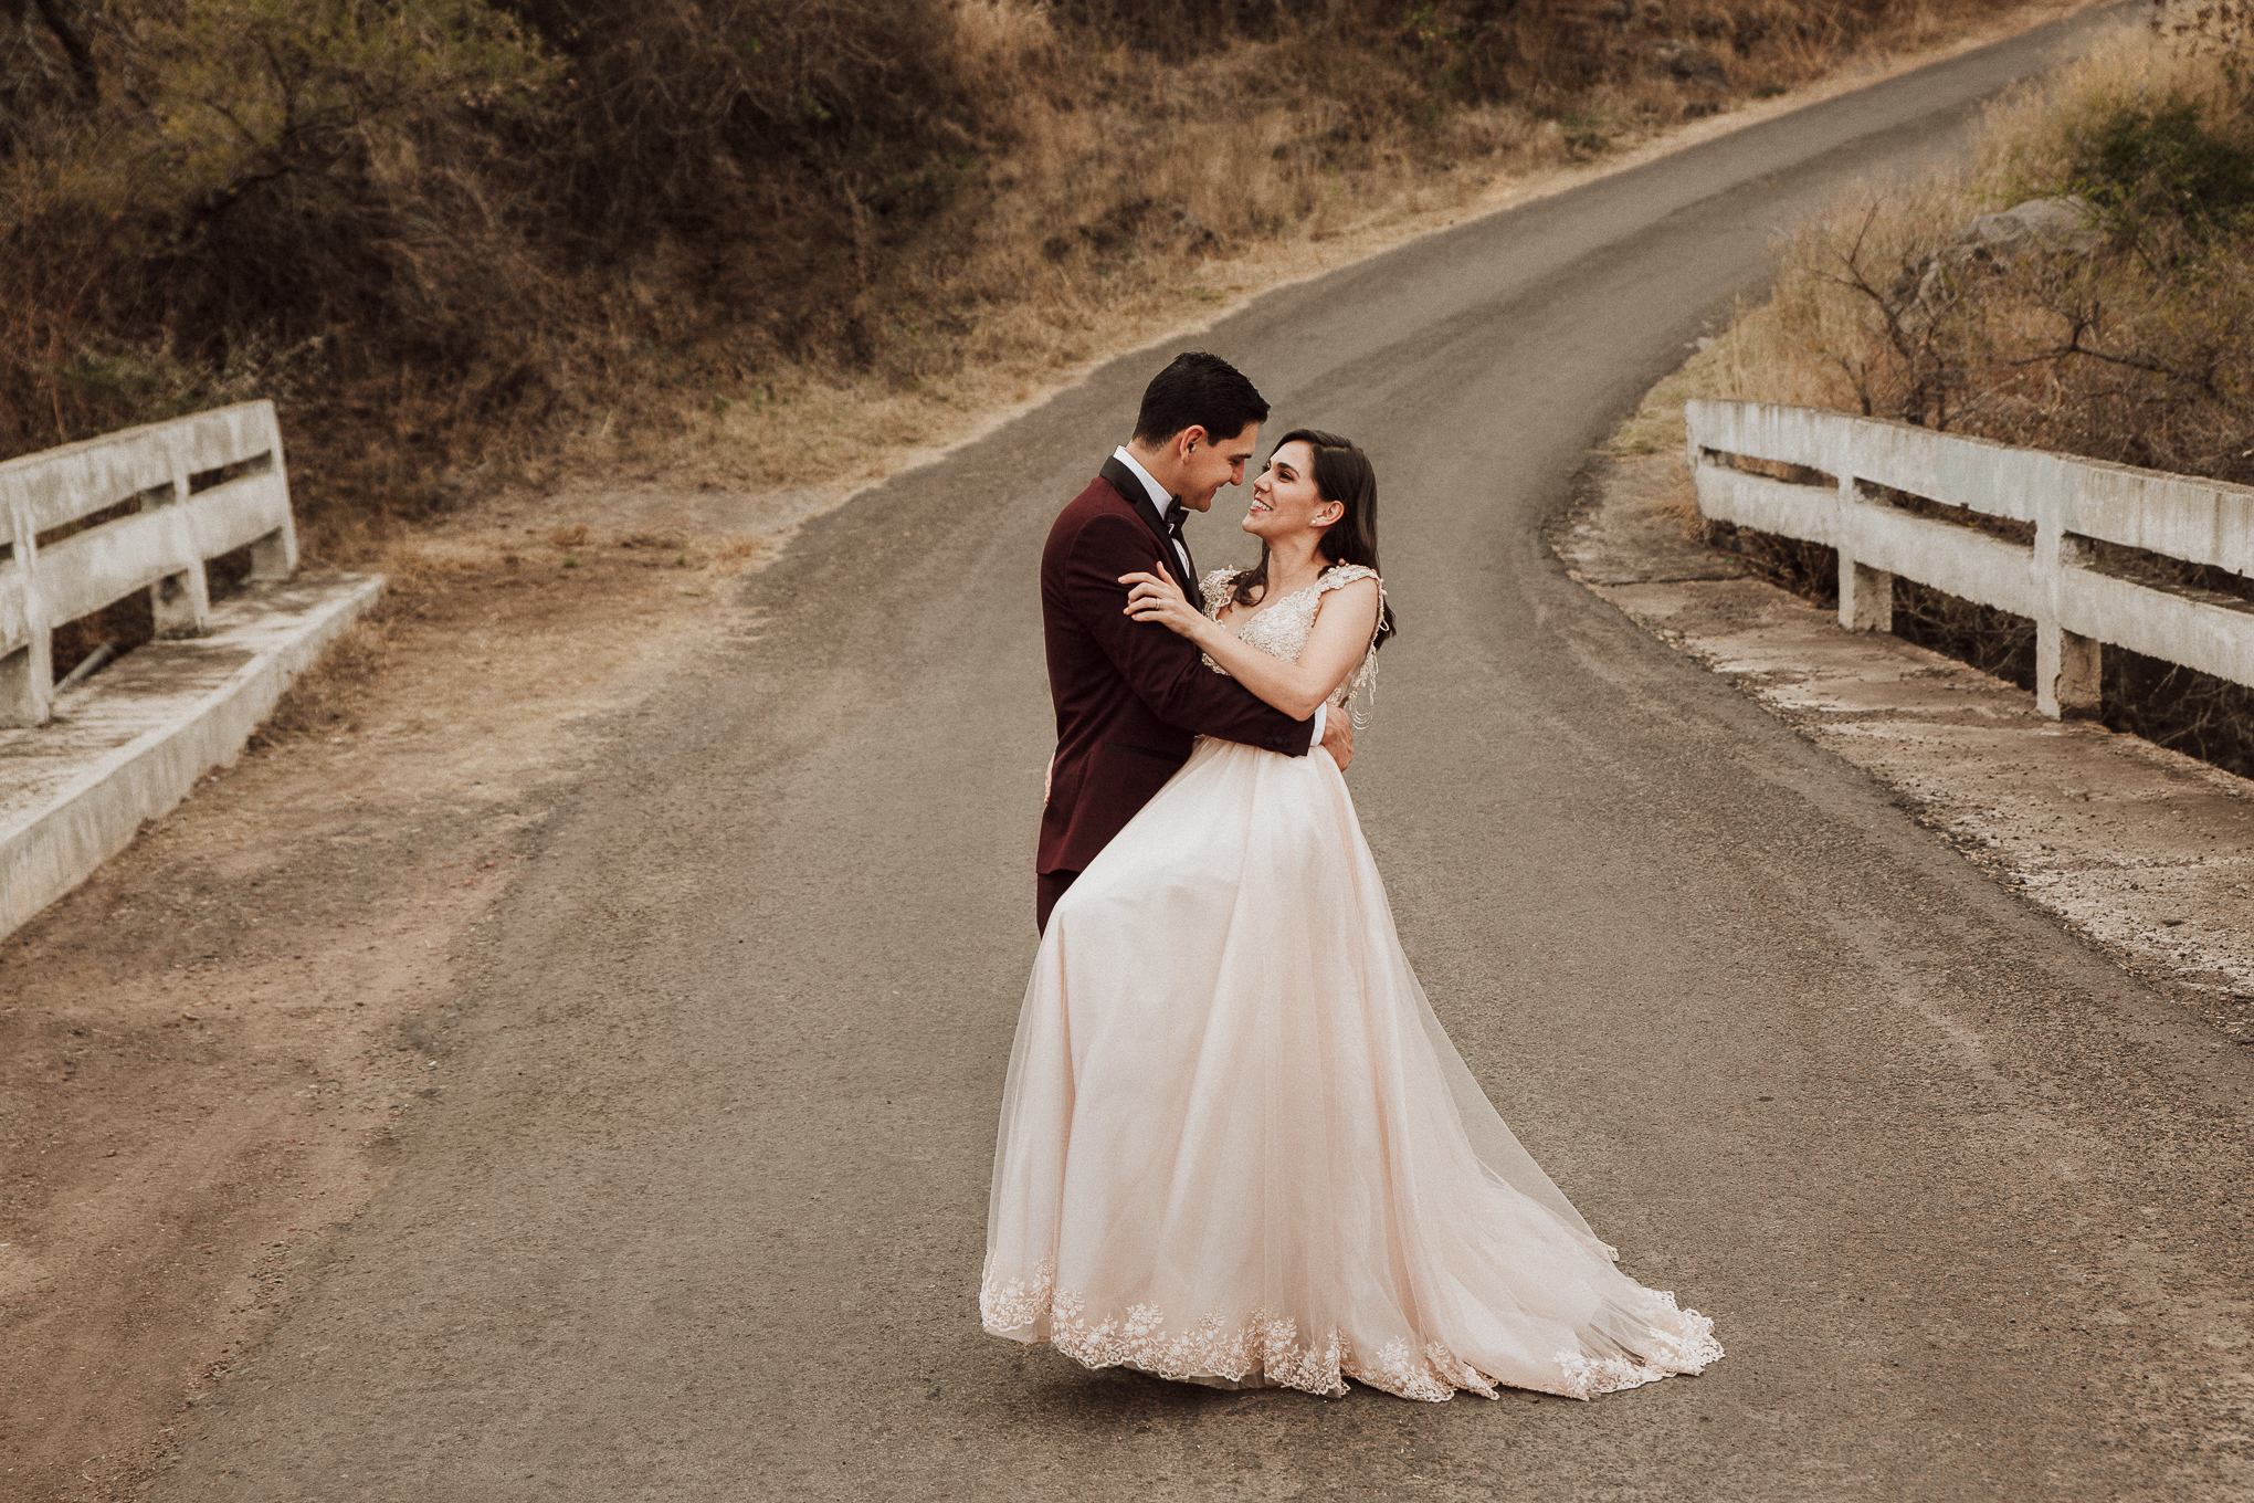
[[[2249,1496],[2254,1050],[2180,1023],[1537,541],[1772,225],[2035,36],[1262,300],[1404,633],[1352,784],[1472,1068],[1729,1359],[1596,1404],[1091,1377],[978,1334],[1035,557],[1129,358],[807,530],[541,836],[392,1190],[162,1498]],[[1197,534],[1228,557],[1226,523]]]

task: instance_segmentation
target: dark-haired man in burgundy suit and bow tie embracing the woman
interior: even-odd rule
[[[1267,401],[1240,370],[1183,354],[1143,390],[1134,439],[1048,530],[1041,550],[1041,633],[1057,755],[1035,856],[1035,924],[1111,836],[1190,759],[1199,735],[1305,757],[1325,746],[1355,757],[1346,717],[1294,721],[1204,665],[1197,647],[1159,622],[1127,617],[1120,575],[1159,568],[1199,602],[1197,566],[1181,536],[1190,512],[1222,484],[1242,484]],[[1325,719],[1330,723],[1325,726]]]

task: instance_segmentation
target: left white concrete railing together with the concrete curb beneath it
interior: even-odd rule
[[[250,584],[214,606],[205,563],[239,548]],[[270,401],[0,464],[0,935],[241,755],[383,586],[295,568]],[[56,685],[54,629],[135,590],[158,640]]]

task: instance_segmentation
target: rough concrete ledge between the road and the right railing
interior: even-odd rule
[[[2132,978],[2254,1048],[2254,780],[2094,721],[1835,613],[1709,548],[1670,372],[1591,455],[1544,543],[1639,629],[1878,780],[1986,877]],[[1630,430],[1636,430],[1630,437]],[[2002,786],[1999,786],[2002,784]]]

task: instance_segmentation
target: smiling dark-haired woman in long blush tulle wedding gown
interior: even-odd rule
[[[1285,714],[1366,692],[1377,478],[1285,435],[1251,570],[1127,613]],[[1722,1357],[1618,1269],[1488,1104],[1393,931],[1328,755],[1204,737],[1057,901],[1010,1052],[985,1329],[1089,1368],[1409,1399],[1587,1399]]]

